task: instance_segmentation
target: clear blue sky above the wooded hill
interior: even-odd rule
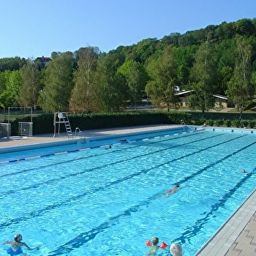
[[[0,58],[37,58],[256,18],[256,0],[2,0]]]

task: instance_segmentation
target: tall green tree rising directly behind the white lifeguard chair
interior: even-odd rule
[[[69,110],[75,59],[72,53],[53,53],[45,69],[45,87],[39,105],[50,112]]]

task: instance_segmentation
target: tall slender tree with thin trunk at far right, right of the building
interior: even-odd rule
[[[242,118],[243,108],[246,101],[252,99],[255,93],[255,86],[252,85],[252,46],[246,42],[244,37],[236,39],[236,65],[233,70],[233,77],[227,83],[227,97],[240,109]]]

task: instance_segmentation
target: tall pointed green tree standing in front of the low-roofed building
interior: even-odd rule
[[[214,61],[214,48],[207,39],[195,54],[195,63],[191,69],[193,93],[188,97],[189,107],[203,113],[214,107],[214,85],[217,64]]]

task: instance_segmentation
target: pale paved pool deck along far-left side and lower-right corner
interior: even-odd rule
[[[141,127],[124,127],[113,129],[96,129],[83,131],[86,138],[108,135],[125,135],[138,132],[153,132],[159,129],[170,129],[178,125],[151,125]],[[58,143],[67,141],[67,135],[36,135],[33,137],[11,137],[0,139],[0,149],[22,148],[23,146]],[[195,254],[195,256],[253,256],[256,255],[256,189],[227,219],[214,236]]]

